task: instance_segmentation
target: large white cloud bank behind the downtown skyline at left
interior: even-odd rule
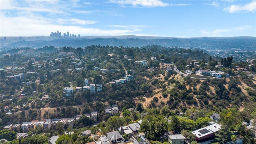
[[[83,23],[83,22],[82,22]],[[141,29],[110,29],[102,30],[100,28],[85,28],[82,26],[61,25],[52,19],[37,16],[16,16],[6,17],[1,14],[1,36],[49,36],[51,32],[69,31],[81,36],[110,36],[110,35],[128,35]]]

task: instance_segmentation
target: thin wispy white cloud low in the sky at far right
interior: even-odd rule
[[[227,29],[216,29],[214,31],[200,30],[200,32],[207,36],[221,36],[220,34],[224,33],[224,32],[236,32],[236,31],[241,31],[241,30],[247,30],[251,27],[252,26],[238,26],[238,27],[227,28]]]

